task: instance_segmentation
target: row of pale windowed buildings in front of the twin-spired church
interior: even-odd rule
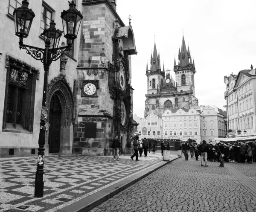
[[[217,107],[165,110],[162,117],[151,113],[146,118],[135,115],[138,132],[148,138],[195,139],[211,141],[226,136],[226,114]]]

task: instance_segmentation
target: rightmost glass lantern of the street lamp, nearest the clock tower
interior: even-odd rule
[[[63,12],[61,12],[64,37],[68,40],[75,40],[77,38],[83,16],[81,12],[76,9],[74,1],[72,1],[69,6],[70,9],[63,10]]]

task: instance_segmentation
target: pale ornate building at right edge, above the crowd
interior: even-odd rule
[[[224,76],[227,102],[227,129],[231,136],[256,133],[255,93],[256,70],[241,70],[237,75]]]

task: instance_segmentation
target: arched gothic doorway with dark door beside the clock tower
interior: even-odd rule
[[[72,153],[74,98],[65,75],[55,77],[47,86],[48,122],[46,153]]]

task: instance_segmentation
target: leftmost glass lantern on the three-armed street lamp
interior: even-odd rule
[[[20,38],[26,38],[29,36],[29,30],[32,25],[35,13],[32,9],[28,8],[29,3],[27,0],[23,0],[22,6],[15,8],[13,12],[14,23],[15,23],[15,35]]]

